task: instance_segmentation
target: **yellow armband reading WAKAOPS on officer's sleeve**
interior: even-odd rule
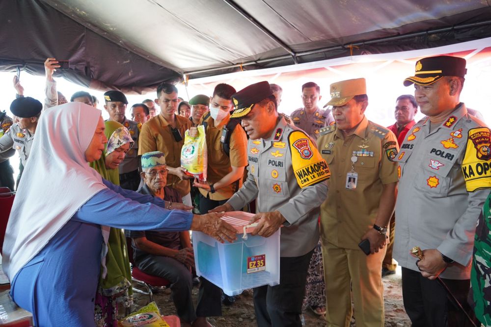
[[[331,173],[310,138],[296,130],[288,136],[292,153],[292,168],[300,188],[317,184],[329,178]]]

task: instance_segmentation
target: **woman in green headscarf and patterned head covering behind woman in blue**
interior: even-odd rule
[[[107,121],[104,133],[108,138],[106,149],[101,158],[90,164],[104,179],[119,185],[118,166],[126,152],[133,147],[133,139],[126,127]],[[95,299],[95,322],[97,327],[117,325],[117,303],[123,302],[126,308],[133,303],[131,289],[131,271],[126,249],[124,232],[119,228],[103,228],[104,240],[102,255],[106,262],[101,267],[101,277]]]

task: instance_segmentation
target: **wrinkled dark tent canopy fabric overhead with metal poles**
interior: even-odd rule
[[[128,93],[184,74],[197,78],[491,36],[490,2],[479,0],[0,0],[0,12],[0,71],[20,65],[43,74],[44,60],[55,56],[71,64],[56,75]]]

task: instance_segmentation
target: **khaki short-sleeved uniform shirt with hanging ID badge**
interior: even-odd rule
[[[365,117],[346,138],[335,125],[325,127],[317,146],[332,174],[327,181],[329,196],[321,206],[322,240],[359,250],[361,237],[377,218],[382,185],[397,182],[397,164],[392,161],[399,150],[396,137]],[[346,188],[346,177],[354,155],[358,180],[351,190]]]

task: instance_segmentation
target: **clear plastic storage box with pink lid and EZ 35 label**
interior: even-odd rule
[[[205,277],[229,296],[241,294],[248,288],[279,284],[279,236],[278,229],[270,237],[249,233],[243,238],[243,228],[252,214],[227,212],[223,220],[237,228],[237,240],[220,243],[216,239],[198,232],[192,232],[196,274]]]

